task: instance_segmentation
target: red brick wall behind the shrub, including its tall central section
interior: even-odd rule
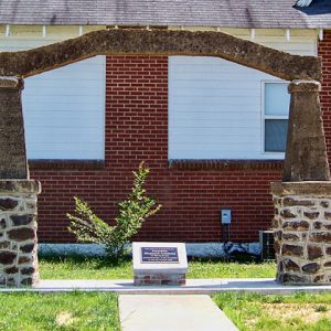
[[[331,62],[330,62],[331,63]],[[331,105],[331,103],[330,103]],[[109,56],[106,92],[106,160],[103,169],[32,167],[42,182],[40,242],[70,242],[65,213],[84,197],[105,220],[130,190],[131,171],[145,160],[148,191],[163,205],[138,235],[143,241],[222,241],[220,210],[233,210],[231,239],[256,242],[271,223],[269,182],[281,166],[266,163],[168,164],[168,58]]]

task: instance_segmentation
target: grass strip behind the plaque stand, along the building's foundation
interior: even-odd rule
[[[220,260],[191,260],[188,278],[273,278],[275,263],[229,263]],[[42,279],[132,279],[132,263],[118,265],[105,258],[41,257]]]

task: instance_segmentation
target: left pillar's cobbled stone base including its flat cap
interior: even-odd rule
[[[39,281],[36,195],[32,180],[0,180],[0,287],[33,286]]]

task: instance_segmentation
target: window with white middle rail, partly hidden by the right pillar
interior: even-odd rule
[[[264,152],[285,152],[290,95],[287,83],[264,83]]]

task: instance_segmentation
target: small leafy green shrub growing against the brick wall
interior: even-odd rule
[[[104,244],[107,256],[118,260],[125,254],[126,244],[138,232],[143,221],[161,207],[160,204],[156,204],[156,199],[146,196],[143,184],[148,173],[149,169],[143,162],[137,172],[134,171],[132,191],[126,201],[118,204],[114,226],[99,218],[86,202],[75,196],[75,214],[67,214],[71,221],[68,231],[75,234],[78,242]]]

